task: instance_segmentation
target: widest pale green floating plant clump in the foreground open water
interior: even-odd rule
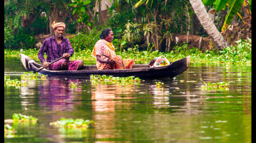
[[[50,125],[54,125],[56,127],[64,127],[64,128],[82,128],[87,129],[89,124],[94,123],[92,120],[83,120],[77,119],[73,120],[72,118],[66,119],[65,117],[57,120],[56,122],[51,122]]]

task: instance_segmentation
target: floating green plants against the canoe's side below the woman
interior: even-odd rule
[[[90,75],[90,81],[92,85],[97,85],[98,83],[133,85],[139,84],[141,82],[141,79],[138,77],[135,78],[134,76],[114,77],[112,75]]]

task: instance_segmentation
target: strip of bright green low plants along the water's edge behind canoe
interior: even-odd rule
[[[30,58],[33,58],[36,61],[39,61],[37,58],[38,49],[29,48],[20,50],[11,50],[4,49],[4,56],[7,57],[19,57],[19,53],[24,53]],[[71,60],[80,59],[80,60],[91,60],[95,59],[92,57],[92,50],[84,49],[82,51],[77,51],[74,53]],[[117,48],[117,55],[121,55],[123,58],[132,58],[137,63],[149,63],[155,57],[164,55],[170,62],[174,60],[179,60],[188,55],[191,56],[192,63],[241,63],[241,64],[251,64],[252,63],[252,44],[251,39],[237,41],[237,46],[224,48],[223,51],[206,51],[202,52],[198,48],[188,48],[187,43],[184,43],[182,46],[174,47],[173,51],[169,52],[159,52],[152,51],[150,45],[148,46],[147,51],[139,51],[137,46],[133,48],[127,48],[127,51],[119,51]]]

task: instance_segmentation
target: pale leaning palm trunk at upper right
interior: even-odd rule
[[[212,38],[212,41],[217,45],[217,48],[222,49],[226,46],[229,46],[227,41],[225,41],[221,35],[220,31],[217,30],[210,16],[207,14],[205,5],[202,4],[202,0],[189,0],[189,2],[192,5],[192,8],[194,9],[201,25],[210,36],[210,38]]]

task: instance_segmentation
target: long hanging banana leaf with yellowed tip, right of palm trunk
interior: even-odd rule
[[[237,14],[237,11],[240,10],[243,2],[244,0],[230,0],[230,9],[228,14],[225,17],[225,22],[222,26],[222,31],[225,31],[227,29],[227,26],[230,25],[235,14]]]

